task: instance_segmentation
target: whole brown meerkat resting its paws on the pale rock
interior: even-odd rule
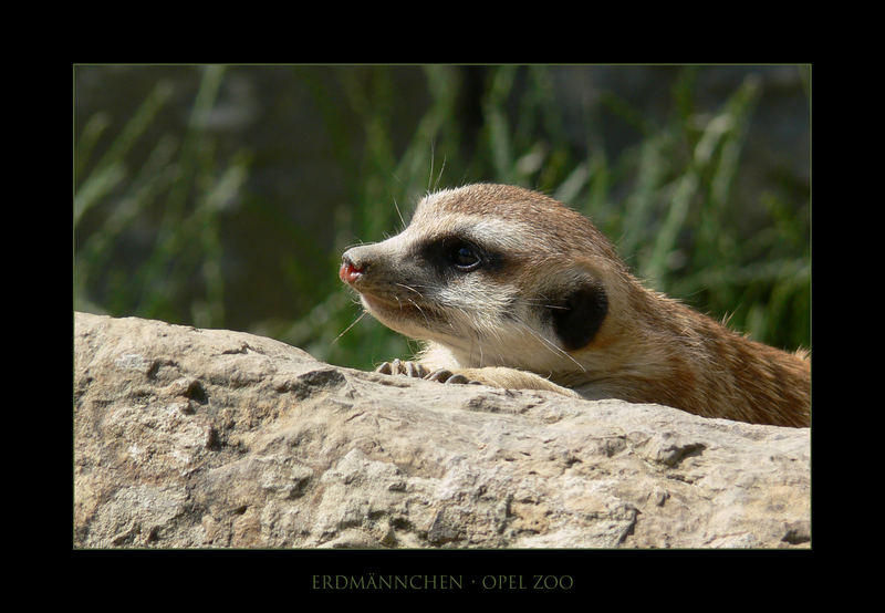
[[[339,274],[381,323],[425,342],[382,373],[810,425],[806,352],[645,288],[586,217],[529,189],[429,194],[400,233],[348,249]]]

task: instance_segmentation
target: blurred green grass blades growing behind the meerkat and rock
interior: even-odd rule
[[[395,233],[403,226],[400,215],[407,220],[428,190],[493,181],[542,190],[586,214],[649,287],[715,319],[728,318],[732,329],[756,340],[811,347],[810,199],[796,204],[792,195],[767,190],[758,202],[763,222],[754,225],[742,219],[735,202],[742,147],[760,95],[752,75],[715,113],[700,113],[694,102],[695,69],[686,67],[670,92],[673,112],[660,123],[610,96],[607,108],[642,133],[636,146],[610,159],[592,116],[585,117],[591,129],[582,149],[590,153],[569,142],[545,66],[489,72],[479,138],[469,156],[457,113],[465,84],[451,66],[421,69],[429,103],[405,147],[393,137],[398,93],[386,71],[361,79],[341,71],[342,100],[310,69],[292,70],[322,111],[354,206],[336,211],[332,250],[312,242],[310,230],[293,227],[279,209],[258,207],[269,227],[299,245],[300,254],[282,267],[280,282],[295,288],[303,305],[298,318],[254,322],[252,332],[354,367],[408,356],[415,347],[369,316],[354,324],[361,310],[334,272],[341,252]],[[96,143],[108,137],[108,118],[96,114],[75,135],[75,309],[226,325],[221,224],[227,204],[242,196],[251,156],[246,150],[217,155],[217,137],[200,121],[216,103],[225,72],[223,66],[202,70],[187,131],[180,138],[150,143],[147,163],[138,168],[132,167],[129,153],[169,100],[168,84],[157,84],[97,160]],[[516,100],[518,76],[525,81],[525,94]],[[808,72],[802,77],[810,83]],[[361,148],[351,144],[353,115],[362,126]],[[81,220],[96,207],[105,210],[103,222],[83,230]],[[145,238],[149,254],[128,261],[123,230],[146,217],[157,228]],[[312,264],[299,263],[305,261]],[[96,295],[104,298],[96,302]]]

